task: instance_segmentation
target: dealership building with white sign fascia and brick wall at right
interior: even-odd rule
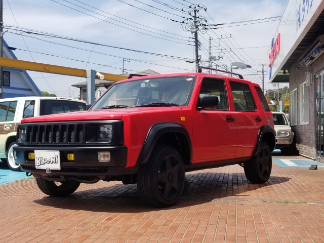
[[[289,83],[301,155],[323,157],[324,0],[289,0],[271,41],[269,83]],[[323,157],[324,159],[324,157]]]

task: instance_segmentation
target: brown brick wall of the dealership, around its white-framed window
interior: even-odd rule
[[[292,130],[296,138],[296,147],[299,153],[316,157],[316,82],[315,73],[324,68],[324,54],[322,54],[316,61],[309,67],[305,64],[301,65],[298,70],[296,67],[299,65],[299,59],[292,65],[289,70],[289,89],[293,91],[297,88],[297,126],[293,126]],[[311,85],[309,86],[309,124],[300,124],[300,85],[305,82],[305,72],[311,72]]]

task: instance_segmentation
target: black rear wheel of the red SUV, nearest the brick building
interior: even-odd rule
[[[265,183],[270,178],[272,169],[272,156],[269,145],[265,142],[261,144],[257,155],[244,163],[244,172],[252,183]]]

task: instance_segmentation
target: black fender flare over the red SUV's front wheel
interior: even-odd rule
[[[185,138],[187,139],[187,142],[188,142],[189,150],[190,150],[189,164],[192,163],[192,144],[191,144],[191,139],[190,139],[189,133],[186,130],[186,128],[184,126],[182,126],[181,124],[177,124],[177,123],[159,123],[159,124],[153,125],[149,129],[149,131],[146,135],[144,144],[142,146],[141,152],[137,159],[137,163],[136,163],[137,166],[145,164],[148,161],[157,139],[161,135],[163,135],[165,133],[169,133],[169,132],[177,132],[177,133],[181,133],[185,136]]]

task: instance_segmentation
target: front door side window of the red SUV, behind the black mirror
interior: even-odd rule
[[[203,96],[218,97],[219,105],[208,109],[228,110],[227,93],[223,79],[204,78],[201,83],[199,98]]]

